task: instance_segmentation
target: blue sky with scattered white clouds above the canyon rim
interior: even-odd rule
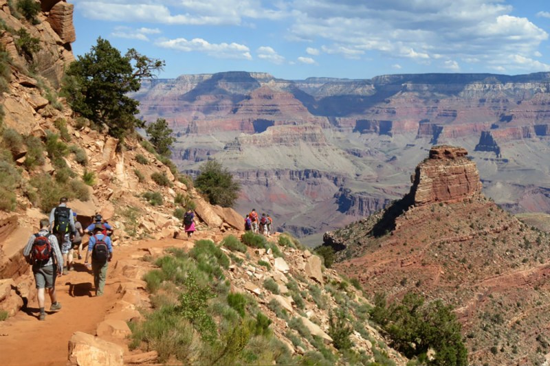
[[[548,0],[69,0],[76,55],[98,36],[166,61],[160,78],[550,71]]]

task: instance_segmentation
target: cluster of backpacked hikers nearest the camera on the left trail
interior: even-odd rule
[[[90,238],[84,264],[94,275],[96,296],[103,295],[107,268],[113,258],[113,243],[110,238],[113,227],[100,214],[96,214],[94,222],[83,229],[76,217],[76,212],[67,207],[67,198],[61,198],[59,205],[50,212],[50,218],[40,220],[39,232],[30,236],[23,249],[25,259],[32,264],[38,290],[39,320],[45,320],[46,317],[46,289],[52,300],[50,312],[61,310],[61,303],[56,298],[56,277],[74,270],[75,249],[78,259],[82,259],[80,250],[86,233]]]

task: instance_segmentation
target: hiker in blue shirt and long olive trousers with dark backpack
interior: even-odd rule
[[[100,222],[94,227],[94,235],[90,236],[88,241],[88,251],[84,264],[94,274],[94,286],[96,287],[96,296],[103,295],[105,279],[107,279],[107,267],[113,258],[113,244],[111,238],[104,233],[105,227]],[[88,259],[91,255],[91,265]]]

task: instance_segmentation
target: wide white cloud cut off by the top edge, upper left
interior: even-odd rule
[[[288,15],[284,6],[268,8],[260,0],[77,0],[76,7],[89,19],[185,25],[241,25],[245,18],[276,20]]]

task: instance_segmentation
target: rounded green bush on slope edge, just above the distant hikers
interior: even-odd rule
[[[212,205],[232,207],[241,190],[239,182],[216,160],[206,161],[200,170],[195,187],[206,194]]]

